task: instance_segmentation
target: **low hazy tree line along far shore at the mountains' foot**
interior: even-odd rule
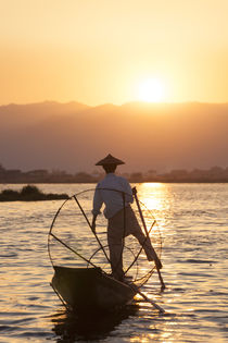
[[[228,167],[212,167],[208,170],[185,169],[157,173],[155,170],[148,172],[118,173],[131,183],[164,182],[164,183],[228,183]],[[49,172],[45,169],[23,172],[18,169],[7,170],[0,164],[0,183],[36,184],[36,183],[97,183],[103,177],[102,172],[77,172],[75,174],[61,170]]]

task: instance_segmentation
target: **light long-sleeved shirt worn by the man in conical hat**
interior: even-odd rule
[[[92,213],[94,216],[101,213],[100,210],[104,204],[105,218],[112,218],[124,208],[123,193],[125,194],[125,206],[134,201],[132,191],[128,181],[122,176],[115,175],[114,173],[106,174],[96,187]]]

